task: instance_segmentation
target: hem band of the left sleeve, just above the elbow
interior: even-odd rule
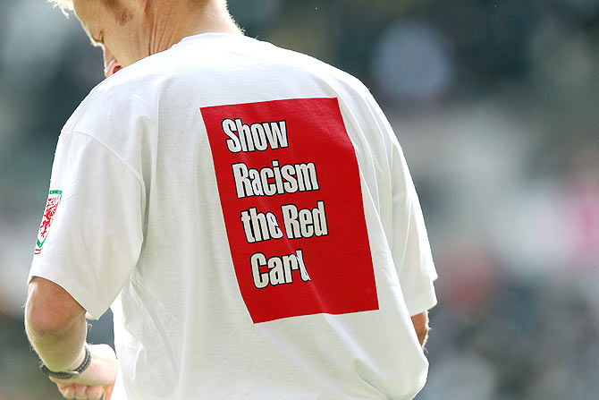
[[[76,302],[79,302],[81,307],[91,314],[94,319],[99,319],[102,314],[108,310],[108,307],[98,306],[101,302],[89,293],[89,290],[84,286],[79,285],[74,279],[68,277],[63,270],[55,264],[36,263],[30,269],[30,275],[27,278],[27,283],[31,282],[33,277],[43,277],[56,285],[61,286]]]

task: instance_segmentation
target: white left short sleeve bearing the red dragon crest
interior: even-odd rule
[[[97,319],[139,259],[142,181],[101,142],[63,132],[50,193],[29,280],[44,277],[62,286]]]

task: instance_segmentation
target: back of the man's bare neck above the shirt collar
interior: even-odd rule
[[[148,2],[148,55],[160,53],[182,38],[219,32],[241,35],[224,2],[207,0],[196,5],[189,0]]]

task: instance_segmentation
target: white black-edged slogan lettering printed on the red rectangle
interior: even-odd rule
[[[287,123],[284,120],[249,125],[240,118],[225,118],[222,128],[228,138],[225,140],[227,149],[231,153],[289,148]],[[231,167],[238,199],[320,190],[313,162],[282,164],[278,159],[273,159],[270,166],[259,169],[250,168],[243,162],[232,164]],[[279,224],[277,214],[281,216],[283,225]],[[240,211],[240,222],[247,243],[328,234],[325,202],[322,200],[316,201],[313,209],[299,209],[295,204],[284,204],[276,211],[258,210],[256,207],[243,209]],[[257,289],[292,284],[293,271],[296,271],[296,281],[310,281],[301,249],[271,257],[266,257],[261,251],[254,252],[249,259],[249,267]]]

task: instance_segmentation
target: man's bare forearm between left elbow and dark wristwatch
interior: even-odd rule
[[[49,370],[74,370],[83,361],[83,344],[87,336],[85,314],[72,320],[69,326],[58,330],[36,328],[25,319],[25,330],[30,343]]]

